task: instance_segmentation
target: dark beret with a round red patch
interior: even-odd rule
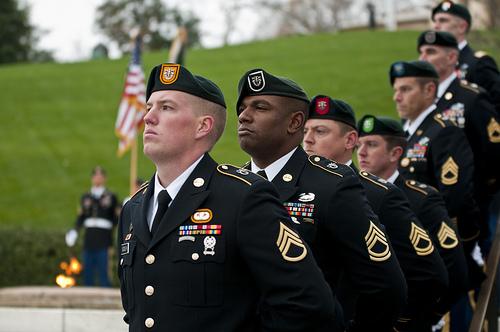
[[[329,119],[356,128],[354,111],[346,102],[328,96],[315,96],[309,104],[309,119]]]

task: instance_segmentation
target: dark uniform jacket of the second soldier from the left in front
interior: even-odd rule
[[[359,291],[349,329],[392,331],[406,283],[356,174],[298,147],[272,183],[333,291],[341,274]]]

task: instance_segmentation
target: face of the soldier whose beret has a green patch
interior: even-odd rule
[[[387,143],[380,135],[362,136],[358,141],[359,167],[367,172],[382,176],[390,167],[391,154]]]

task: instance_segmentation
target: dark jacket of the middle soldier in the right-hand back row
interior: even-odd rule
[[[474,153],[475,197],[483,212],[486,235],[488,207],[500,189],[500,113],[482,88],[455,79],[436,103],[438,111],[463,128]]]

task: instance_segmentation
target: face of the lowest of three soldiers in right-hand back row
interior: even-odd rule
[[[415,77],[396,78],[393,90],[393,100],[401,119],[415,120],[425,110],[424,92]]]

